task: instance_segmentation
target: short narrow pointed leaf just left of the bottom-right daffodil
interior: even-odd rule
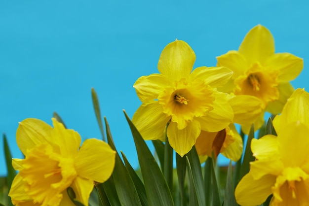
[[[237,206],[232,181],[232,161],[230,161],[228,168],[227,182],[225,186],[224,206]]]

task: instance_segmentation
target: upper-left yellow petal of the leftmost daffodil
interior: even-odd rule
[[[41,143],[51,144],[52,127],[39,119],[25,119],[19,123],[16,131],[16,142],[23,154]]]

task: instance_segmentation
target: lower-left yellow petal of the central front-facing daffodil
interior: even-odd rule
[[[160,139],[171,117],[162,112],[157,101],[143,103],[134,113],[132,122],[144,139]]]

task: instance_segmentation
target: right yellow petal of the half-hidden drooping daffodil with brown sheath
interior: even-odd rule
[[[235,140],[225,149],[225,151],[221,152],[225,157],[231,159],[232,161],[236,162],[240,159],[242,155],[242,138],[236,131],[234,124],[230,124],[230,130],[233,132],[233,137]]]

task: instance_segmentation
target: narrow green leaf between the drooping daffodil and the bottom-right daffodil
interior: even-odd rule
[[[252,162],[252,161],[255,160],[255,158],[252,156],[252,151],[251,151],[251,140],[253,138],[254,138],[254,127],[252,125],[250,132],[249,132],[249,135],[248,135],[245,154],[244,154],[241,169],[240,169],[239,179],[241,179],[246,173],[249,172],[249,170],[250,170],[249,162]]]

